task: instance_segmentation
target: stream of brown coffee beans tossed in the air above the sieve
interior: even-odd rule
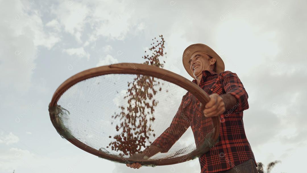
[[[161,38],[160,43],[155,45],[153,42],[151,44],[153,46],[149,49],[150,51],[153,51],[152,55],[150,57],[149,55],[142,57],[146,60],[143,64],[163,68],[164,64],[160,63],[159,57],[164,55],[163,48],[165,41],[162,35],[159,37]],[[159,46],[158,49],[157,46]],[[119,133],[120,135],[114,136],[116,141],[111,142],[109,146],[112,145],[112,150],[122,151],[123,154],[120,153],[120,156],[133,155],[137,152],[142,152],[142,146],[148,147],[145,145],[146,142],[151,144],[151,141],[146,140],[149,140],[150,132],[153,132],[153,129],[151,128],[151,124],[155,120],[153,112],[158,104],[158,101],[154,99],[152,100],[152,98],[157,93],[155,88],[159,88],[159,92],[162,91],[160,82],[151,76],[136,74],[133,82],[127,83],[130,88],[128,88],[126,92],[127,95],[124,96],[124,99],[128,98],[127,103],[129,106],[119,106],[122,112],[119,114],[115,113],[115,115],[111,116],[114,119],[120,118],[120,127],[116,125],[115,129],[116,131],[121,130],[122,132]],[[161,84],[164,85],[164,83]],[[168,90],[166,90],[166,92],[168,92]],[[113,122],[111,124],[113,124]],[[155,134],[153,134],[153,136],[155,137]],[[109,136],[109,138],[111,138],[111,136]]]

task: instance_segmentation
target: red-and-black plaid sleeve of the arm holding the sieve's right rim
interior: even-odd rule
[[[222,78],[225,92],[235,96],[235,98],[237,99],[237,103],[229,111],[231,111],[231,113],[242,112],[248,109],[248,95],[237,74],[232,73],[231,71],[225,71],[222,74]]]

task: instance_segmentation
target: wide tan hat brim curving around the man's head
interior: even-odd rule
[[[211,49],[209,46],[201,44],[201,43],[197,43],[197,44],[193,44],[193,45],[189,45],[185,51],[183,51],[183,55],[182,55],[182,63],[183,66],[185,67],[185,70],[188,72],[188,74],[195,79],[193,72],[190,69],[190,64],[189,64],[189,60],[192,56],[193,53],[197,52],[197,51],[202,51],[205,52],[207,55],[209,55],[210,57],[216,59],[216,73],[219,74],[221,72],[223,72],[225,70],[225,65],[224,65],[224,61],[222,60],[222,58],[213,50]]]

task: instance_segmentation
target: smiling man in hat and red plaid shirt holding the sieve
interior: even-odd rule
[[[255,157],[243,126],[243,111],[249,108],[248,95],[239,77],[236,73],[224,71],[223,60],[204,44],[188,46],[182,62],[185,70],[194,78],[193,82],[209,94],[210,100],[206,105],[201,105],[191,93],[183,96],[178,112],[184,112],[194,121],[182,120],[177,112],[169,128],[141,156],[151,157],[158,152],[167,152],[189,126],[197,145],[201,139],[201,135],[198,135],[201,128],[197,130],[196,127],[202,124],[202,120],[195,120],[200,116],[220,116],[219,142],[199,157],[201,172],[257,172]],[[169,133],[176,128],[176,135]],[[139,168],[141,164],[127,166]]]

